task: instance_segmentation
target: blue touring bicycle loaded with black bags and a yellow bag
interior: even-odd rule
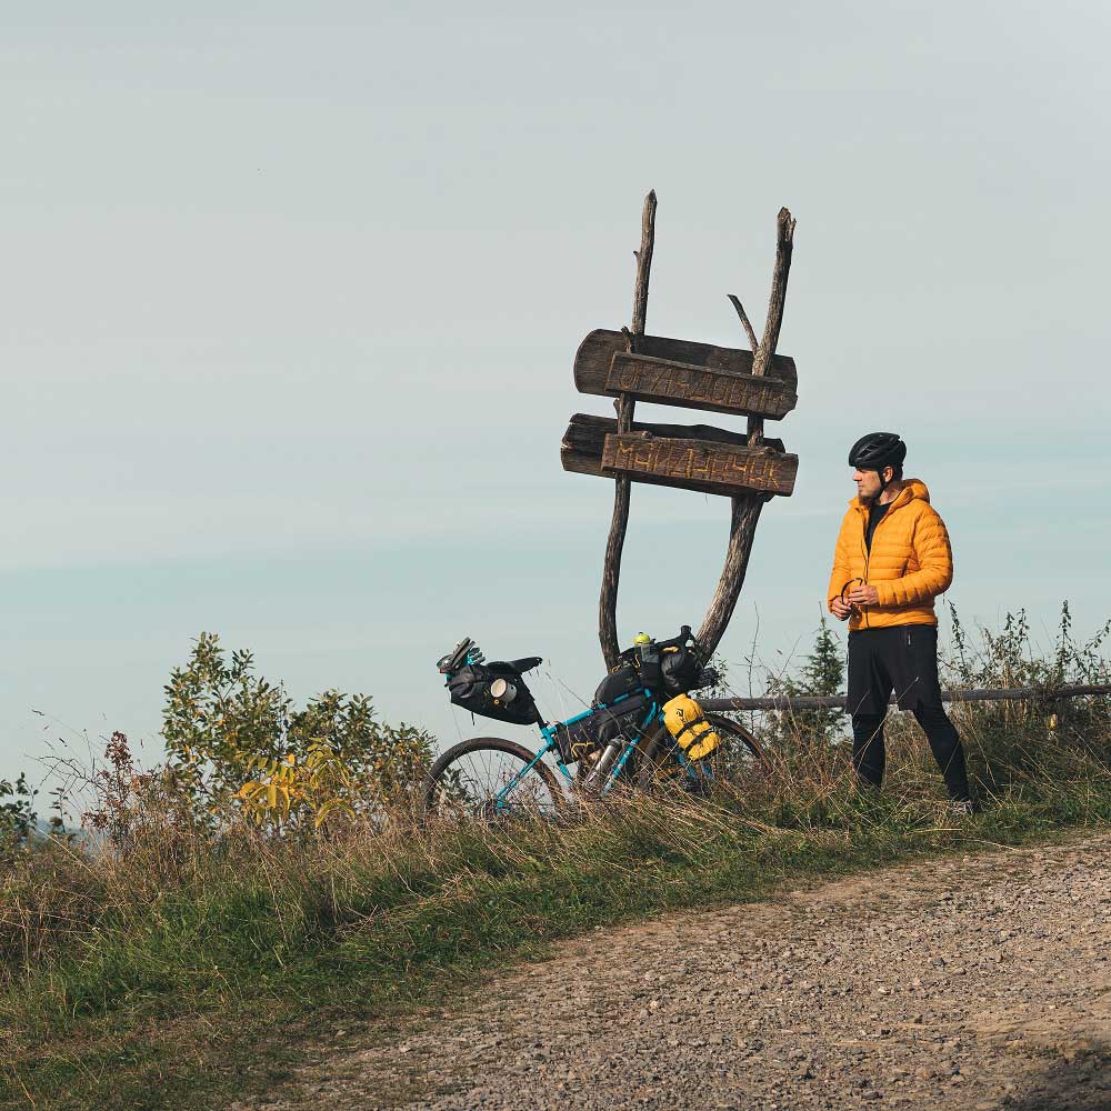
[[[590,709],[552,724],[524,681],[540,657],[487,662],[464,638],[437,664],[451,701],[496,721],[536,725],[540,744],[533,752],[500,737],[473,737],[448,749],[429,771],[426,813],[554,814],[580,798],[604,798],[619,784],[648,789],[671,781],[702,790],[715,765],[763,767],[748,730],[703,713],[690,697],[718,682],[704,662],[689,625],[671,640],[641,633],[602,680]]]

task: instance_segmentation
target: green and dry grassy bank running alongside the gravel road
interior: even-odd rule
[[[1107,700],[954,710],[990,804],[953,824],[898,719],[882,797],[828,718],[775,718],[774,769],[709,799],[632,797],[560,824],[397,819],[276,838],[144,815],[114,851],[0,850],[0,1108],[211,1108],[384,1037],[480,974],[593,927],[1111,824]],[[338,1034],[337,1031],[344,1031]]]

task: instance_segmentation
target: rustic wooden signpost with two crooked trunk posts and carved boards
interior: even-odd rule
[[[777,220],[775,267],[763,337],[758,341],[741,302],[730,294],[751,350],[648,336],[648,284],[655,246],[655,193],[644,199],[641,247],[630,328],[595,329],[574,357],[580,393],[614,398],[617,419],[575,413],[563,436],[563,469],[609,478],[614,483],[613,520],[602,567],[598,634],[605,665],[618,663],[617,597],[621,552],[629,521],[631,482],[679,487],[731,499],[725,564],[698,632],[709,658],[732,617],[744,582],[757,522],[764,502],[789,497],[799,469],[780,440],[765,439],[763,422],[781,420],[798,403],[794,360],[777,354],[791,270],[794,220],[781,209]],[[633,421],[637,401],[681,406],[748,418],[747,430],[705,424],[647,424]]]

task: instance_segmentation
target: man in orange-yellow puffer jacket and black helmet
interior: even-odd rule
[[[857,497],[841,522],[827,591],[849,621],[852,760],[860,780],[883,780],[883,718],[892,691],[925,731],[953,807],[971,810],[964,751],[941,702],[933,599],[953,581],[949,532],[918,479],[903,479],[907,444],[870,432],[849,452]]]

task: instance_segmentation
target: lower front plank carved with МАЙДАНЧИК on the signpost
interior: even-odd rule
[[[613,433],[602,444],[602,471],[735,498],[753,490],[790,496],[799,457],[768,448],[679,440],[650,432]]]

